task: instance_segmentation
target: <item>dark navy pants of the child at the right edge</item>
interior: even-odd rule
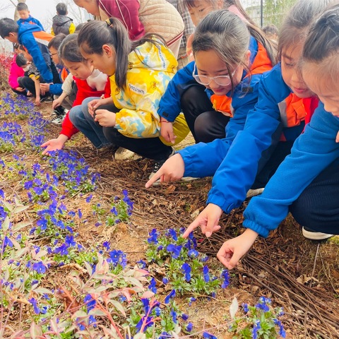
[[[290,212],[300,225],[316,232],[339,234],[339,159],[323,169],[297,200]]]

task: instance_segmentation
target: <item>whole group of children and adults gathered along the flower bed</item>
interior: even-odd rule
[[[115,160],[154,160],[146,187],[213,177],[184,237],[199,226],[210,237],[222,213],[256,196],[246,231],[218,253],[227,268],[289,211],[308,239],[339,234],[338,85],[325,63],[338,53],[338,1],[298,0],[279,33],[258,28],[239,0],[74,2],[95,20],[76,27],[64,3],[51,33],[26,4],[17,22],[0,19],[13,42],[9,85],[52,102],[61,124],[42,154],[81,131]],[[189,131],[196,144],[175,152]]]

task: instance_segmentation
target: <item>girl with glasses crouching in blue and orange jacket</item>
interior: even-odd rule
[[[184,112],[196,143],[234,138],[256,104],[262,73],[272,68],[270,42],[254,25],[220,10],[201,21],[193,43],[196,61],[177,72],[160,100],[161,135],[173,142],[169,122]]]

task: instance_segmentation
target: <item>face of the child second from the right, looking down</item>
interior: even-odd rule
[[[298,97],[311,97],[314,93],[309,90],[299,69],[299,59],[302,56],[302,44],[283,49],[281,54],[281,73],[286,85]]]

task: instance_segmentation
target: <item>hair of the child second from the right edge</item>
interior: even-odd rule
[[[283,49],[304,42],[308,28],[332,0],[299,0],[287,14],[280,28],[278,59]]]

